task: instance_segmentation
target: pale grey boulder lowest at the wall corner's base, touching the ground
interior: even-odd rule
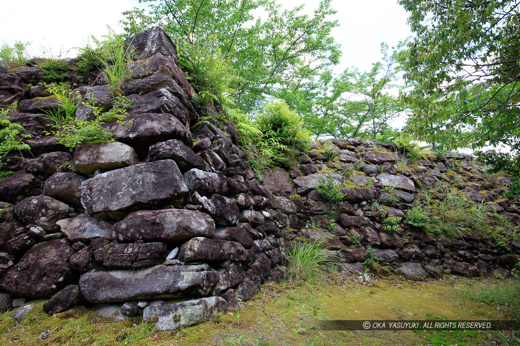
[[[222,297],[193,299],[180,303],[154,303],[142,312],[144,321],[154,320],[159,330],[174,330],[211,320],[215,314],[225,313],[228,303]]]

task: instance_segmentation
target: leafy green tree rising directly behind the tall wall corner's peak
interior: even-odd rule
[[[335,13],[331,0],[322,0],[312,17],[302,14],[303,5],[282,11],[274,0],[139,2],[150,3],[150,9],[124,12],[128,35],[159,24],[179,46],[216,41],[238,76],[231,83],[236,104],[248,113],[290,81],[305,82],[339,62],[339,46],[330,35],[337,25],[328,19]]]

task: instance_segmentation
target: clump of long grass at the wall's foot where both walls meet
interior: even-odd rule
[[[285,255],[293,278],[305,281],[314,280],[320,270],[337,261],[323,241],[292,242]]]

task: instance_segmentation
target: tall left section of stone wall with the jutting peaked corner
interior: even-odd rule
[[[139,59],[122,87],[133,100],[125,119],[131,122],[103,125],[113,143],[69,150],[45,135],[51,124],[42,113],[59,101],[37,85],[38,61],[0,74],[0,101],[18,101],[10,120],[31,135],[34,156],[9,160],[6,168],[15,173],[0,182],[0,204],[7,206],[0,225],[2,309],[40,298],[50,298],[49,313],[82,304],[108,305],[100,314],[120,316],[196,309],[188,325],[285,275],[273,270],[284,262],[281,226],[268,212],[273,198],[243,161],[235,126],[198,121],[193,89],[162,29],[128,42]],[[96,106],[108,110],[113,95],[99,72],[90,75],[73,75],[73,92],[94,95]],[[89,107],[77,108],[76,119],[92,117]],[[179,298],[187,302],[164,302]],[[171,318],[161,324],[173,327]]]

